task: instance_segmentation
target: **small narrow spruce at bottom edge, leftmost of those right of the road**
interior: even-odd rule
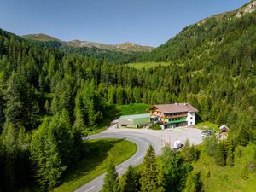
[[[103,192],[118,192],[119,191],[119,179],[118,173],[115,170],[113,159],[109,160],[107,166],[107,173],[104,177]]]

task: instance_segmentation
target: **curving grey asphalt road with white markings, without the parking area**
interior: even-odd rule
[[[93,136],[90,136],[89,139],[97,139],[97,138],[119,138],[126,139],[135,143],[137,145],[137,152],[128,160],[121,163],[119,166],[116,166],[116,171],[119,176],[123,175],[128,166],[133,165],[137,166],[143,163],[143,157],[147,152],[148,146],[152,145],[156,154],[159,155],[161,153],[162,143],[160,138],[148,135],[145,137],[143,133],[134,133],[134,132],[125,132],[125,133],[99,133]],[[99,177],[96,177],[89,183],[84,184],[79,189],[75,190],[75,192],[98,192],[102,189],[103,179],[105,177],[105,173]]]

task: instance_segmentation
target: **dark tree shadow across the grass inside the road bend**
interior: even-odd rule
[[[84,154],[84,158],[79,160],[75,165],[67,167],[67,171],[62,175],[60,185],[83,177],[89,172],[94,171],[97,166],[104,164],[110,150],[121,141],[123,139],[99,139],[85,142],[84,148],[86,148],[87,152]]]

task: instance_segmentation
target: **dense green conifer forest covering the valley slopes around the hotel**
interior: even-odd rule
[[[256,12],[231,12],[145,55],[98,56],[0,30],[0,191],[54,187],[86,158],[84,132],[114,105],[190,102],[197,119],[230,126],[237,142],[256,142],[255,34]],[[130,61],[170,65],[137,70],[124,65]]]

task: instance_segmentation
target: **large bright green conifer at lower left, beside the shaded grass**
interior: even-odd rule
[[[49,126],[49,120],[44,119],[43,124],[33,133],[30,145],[34,177],[43,190],[55,186],[67,168],[61,162],[54,130]]]

